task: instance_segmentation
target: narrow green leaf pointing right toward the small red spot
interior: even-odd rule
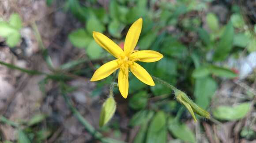
[[[237,77],[237,74],[235,72],[227,68],[222,68],[215,65],[211,65],[208,68],[212,74],[217,75],[219,77],[229,78],[229,79],[233,79]]]

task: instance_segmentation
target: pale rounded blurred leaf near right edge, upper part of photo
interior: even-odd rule
[[[250,38],[244,33],[238,33],[234,36],[233,46],[246,47]]]

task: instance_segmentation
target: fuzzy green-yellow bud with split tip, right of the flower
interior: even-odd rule
[[[189,99],[189,97],[184,92],[180,90],[176,90],[175,97],[177,101],[179,101],[188,109],[189,113],[192,115],[192,118],[195,120],[195,122],[197,120],[194,112],[202,117],[211,118],[210,113],[208,113],[207,111],[203,110],[203,108],[196,105],[191,99]]]

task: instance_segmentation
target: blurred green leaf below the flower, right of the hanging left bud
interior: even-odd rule
[[[153,111],[142,110],[134,114],[129,121],[129,126],[141,125],[144,122],[148,122],[154,115]]]

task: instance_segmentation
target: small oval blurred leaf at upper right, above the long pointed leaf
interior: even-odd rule
[[[219,29],[218,18],[214,13],[207,14],[206,22],[212,32],[218,31],[218,29]]]

